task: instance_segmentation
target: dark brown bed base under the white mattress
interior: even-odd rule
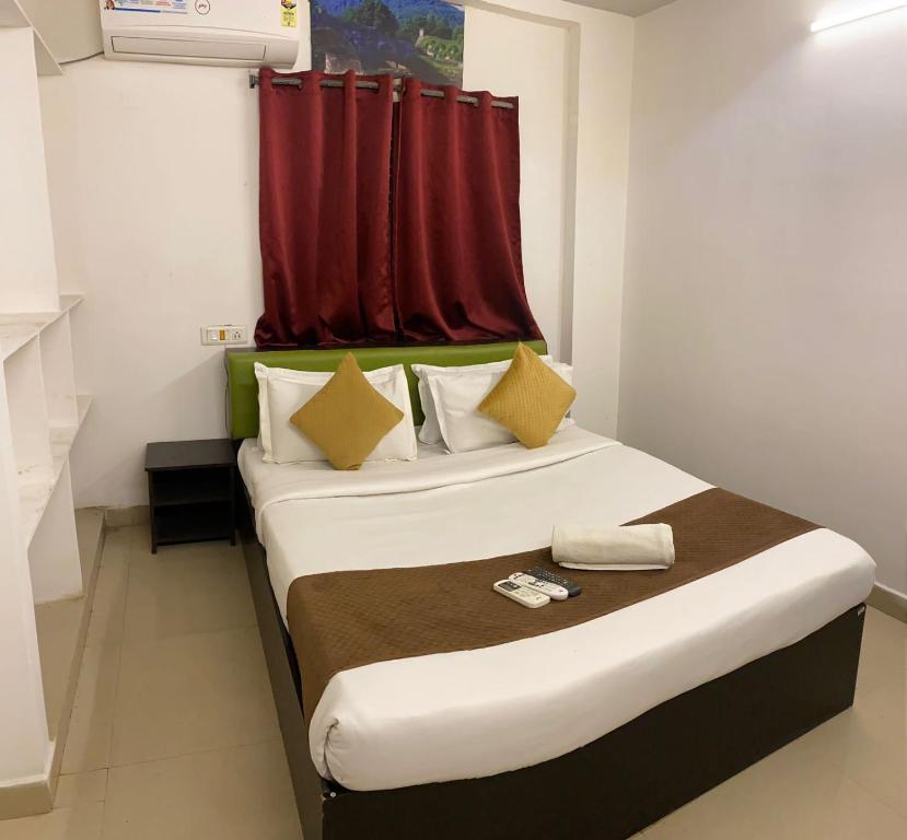
[[[243,549],[304,840],[625,840],[853,703],[862,605],[560,758],[484,779],[348,791],[312,763],[292,642],[243,508]],[[515,802],[538,807],[507,807]]]

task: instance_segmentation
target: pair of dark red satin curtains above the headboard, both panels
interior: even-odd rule
[[[263,68],[259,85],[258,347],[542,338],[523,285],[515,98],[466,104],[407,79],[395,106],[389,75],[351,71]]]

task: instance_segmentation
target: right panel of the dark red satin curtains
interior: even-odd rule
[[[425,96],[422,90],[443,92]],[[542,338],[523,284],[520,127],[487,92],[407,79],[394,160],[394,280],[406,341]]]

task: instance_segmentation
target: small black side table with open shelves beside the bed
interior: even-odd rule
[[[236,545],[235,463],[226,439],[148,444],[152,553],[177,542]]]

